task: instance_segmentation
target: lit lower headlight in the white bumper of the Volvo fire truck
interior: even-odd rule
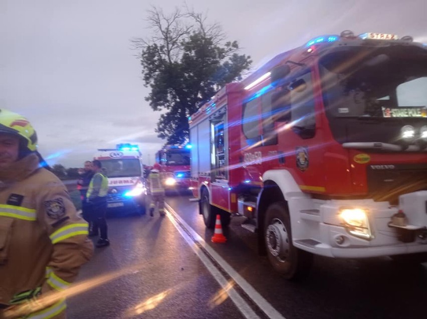
[[[347,231],[364,239],[372,238],[368,212],[361,208],[340,208],[339,215]]]

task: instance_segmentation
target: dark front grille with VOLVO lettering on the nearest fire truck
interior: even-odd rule
[[[396,205],[405,193],[427,190],[427,164],[367,165],[369,195]]]

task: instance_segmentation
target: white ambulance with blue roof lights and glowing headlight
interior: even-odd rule
[[[113,149],[98,149],[93,159],[101,162],[108,177],[107,210],[144,214],[147,191],[139,147],[118,144]]]

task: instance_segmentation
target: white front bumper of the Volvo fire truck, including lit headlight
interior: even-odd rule
[[[398,207],[371,199],[328,200],[318,210],[300,211],[300,219],[293,221],[298,229],[293,243],[340,258],[427,252],[426,203],[427,191],[400,196]]]

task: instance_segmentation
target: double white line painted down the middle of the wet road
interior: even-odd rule
[[[258,307],[264,311],[270,318],[277,318],[277,319],[285,319],[285,317],[277,311],[264,297],[254,289],[254,287],[246,281],[232,266],[230,266],[227,261],[223,259],[213,248],[211,248],[203,238],[199,236],[195,232],[194,229],[192,229],[173,209],[165,203],[167,211],[167,217],[172,221],[172,223],[175,225],[175,227],[178,229],[178,231],[181,233],[181,235],[184,237],[184,239],[188,242],[188,244],[193,248],[194,251],[196,251],[197,255],[200,257],[200,255],[203,255],[204,258],[207,259],[207,257],[204,255],[202,251],[197,247],[197,245],[193,242],[191,238],[181,229],[181,226],[174,220],[176,218],[179,220],[179,222],[184,225],[186,230],[193,236],[193,238],[212,256],[213,259],[215,259],[218,264],[229,274],[231,278],[233,278],[234,281],[246,292],[246,294],[258,305]],[[173,214],[173,216],[170,216],[169,214]],[[185,235],[185,236],[184,236]],[[201,258],[200,258],[201,259]],[[208,260],[208,259],[207,259]],[[202,260],[203,261],[203,260]],[[211,267],[215,268],[215,266],[211,263],[210,260],[208,262],[211,264]],[[204,262],[203,262],[204,263]],[[207,266],[206,266],[207,267]],[[209,269],[209,268],[208,268]],[[215,268],[216,271],[218,271],[217,268]],[[224,276],[220,273],[220,275],[225,280]],[[218,281],[218,279],[217,279]],[[220,282],[221,284],[221,282]],[[224,288],[224,286],[223,286]],[[233,289],[234,290],[234,289]],[[236,292],[236,291],[235,291]],[[236,292],[237,293],[237,292]],[[240,296],[240,295],[239,295]],[[231,297],[231,296],[230,296]],[[233,300],[234,301],[234,300]],[[243,300],[244,301],[244,300]],[[246,303],[246,301],[244,301]],[[236,302],[235,302],[236,303]],[[247,304],[247,303],[246,303]],[[237,304],[236,304],[237,305]],[[242,312],[243,313],[243,312]],[[258,317],[258,316],[257,316]]]

